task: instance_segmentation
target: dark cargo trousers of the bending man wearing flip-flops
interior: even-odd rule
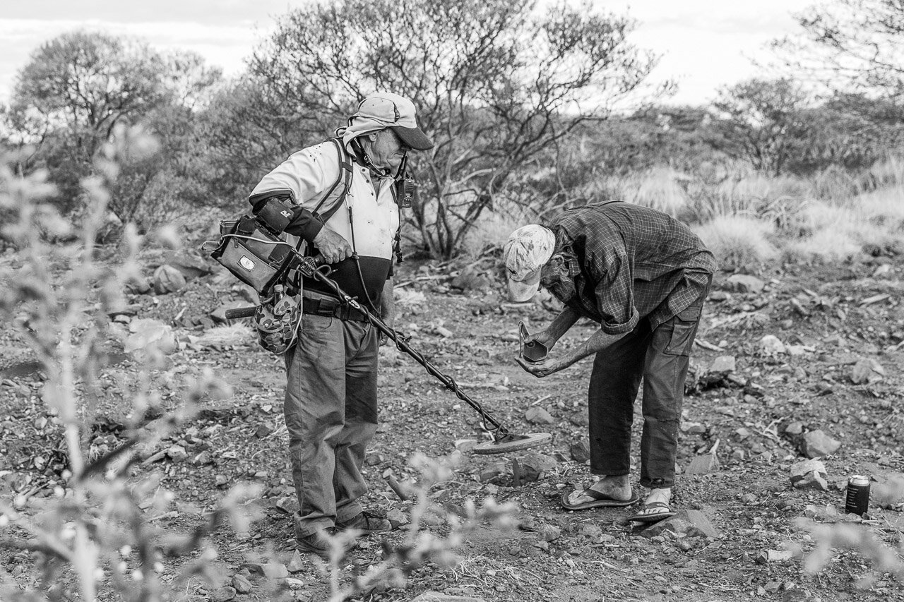
[[[673,486],[684,377],[705,298],[706,291],[652,331],[649,321],[642,319],[633,331],[597,353],[589,386],[591,473],[630,473],[634,400],[643,378],[640,484]]]

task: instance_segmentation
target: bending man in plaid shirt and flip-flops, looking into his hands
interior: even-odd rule
[[[599,330],[573,350],[518,362],[538,378],[595,355],[589,384],[590,472],[596,484],[564,494],[562,507],[627,506],[631,422],[644,381],[640,484],[648,488],[632,521],[673,516],[678,427],[703,300],[716,261],[702,241],[663,212],[603,202],[562,213],[549,228],[514,230],[505,243],[509,296],[527,301],[538,285],[565,309],[530,340],[551,349],[581,317]]]

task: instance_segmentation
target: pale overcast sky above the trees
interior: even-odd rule
[[[274,23],[274,16],[306,0],[0,0],[0,99],[15,73],[42,42],[78,28],[137,35],[159,49],[199,52],[227,75],[242,69]],[[720,86],[759,75],[750,59],[795,32],[791,16],[813,0],[593,0],[593,5],[638,22],[633,41],[663,58],[657,80],[678,80],[673,103],[702,104]]]

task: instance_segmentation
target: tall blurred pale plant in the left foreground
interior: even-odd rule
[[[110,165],[99,168],[112,179]],[[124,303],[121,291],[138,273],[135,257],[142,240],[133,228],[127,229],[123,263],[96,262],[94,240],[108,202],[99,178],[85,182],[86,218],[80,229],[71,231],[69,221],[48,202],[52,193],[46,172],[19,176],[0,165],[0,208],[11,216],[3,235],[14,241],[21,264],[0,273],[5,283],[0,315],[15,325],[42,364],[47,375],[42,400],[58,428],[67,462],[52,498],[38,505],[26,493],[12,503],[0,502],[0,546],[33,552],[39,573],[26,591],[0,582],[0,597],[162,600],[169,588],[160,575],[163,562],[179,566],[183,575],[203,577],[216,555],[206,535],[228,519],[237,531],[248,531],[240,512],[248,492],[238,489],[193,531],[165,531],[150,517],[165,512],[174,495],[159,486],[157,476],[133,471],[136,450],[190,421],[199,400],[223,392],[221,381],[207,373],[187,383],[184,407],[152,426],[145,417],[163,412],[163,387],[150,371],[163,365],[164,349],[147,346],[136,388],[122,390],[131,403],[127,443],[91,453],[86,438],[102,389],[99,375],[108,366],[110,345],[118,344],[107,313]],[[68,235],[69,242],[50,246],[44,232]],[[145,506],[151,513],[142,510]],[[198,553],[197,560],[186,560],[192,552]]]

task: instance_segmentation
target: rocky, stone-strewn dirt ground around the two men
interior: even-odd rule
[[[887,263],[891,268],[880,269],[882,277],[871,277]],[[517,504],[521,527],[501,531],[485,525],[457,550],[460,562],[453,569],[428,564],[403,588],[372,591],[362,599],[410,600],[435,591],[498,601],[904,600],[902,584],[888,573],[875,572],[856,551],[836,550],[832,560],[812,574],[805,573],[800,553],[784,553],[806,554],[815,548],[805,525],[862,522],[843,513],[849,475],[872,475],[875,486],[904,473],[900,258],[776,269],[760,275],[766,287],[756,293],[738,292],[727,274],[717,278],[698,334],[701,344],[692,356],[695,369],[684,400],[678,466],[686,471],[693,458],[713,447],[718,466],[702,475],[680,475],[673,500],[676,510],[700,511],[695,516],[705,517],[717,531],[711,536],[692,530],[650,537],[626,521],[631,509],[570,513],[560,508],[563,492],[593,482],[588,463],[574,459],[584,460],[579,444],[588,435],[586,390],[592,362],[579,362],[542,380],[523,372],[514,362],[518,321],[540,329],[555,315],[555,307],[549,301],[506,304],[491,262],[477,268],[487,276],[460,266],[403,264],[397,275],[397,324],[421,353],[508,428],[550,432],[551,444],[532,450],[548,456],[541,461],[549,466],[531,474],[524,469],[532,463],[527,452],[468,452],[473,443],[463,440],[486,440],[476,412],[410,358],[384,348],[381,426],[366,466],[368,506],[378,513],[407,510],[386,478],[417,479],[418,472],[408,466],[408,458],[417,452],[451,454],[460,456],[460,465],[451,480],[430,490],[434,501],[454,510],[466,500],[479,503],[492,495]],[[204,333],[210,323],[201,318],[221,302],[240,299],[239,287],[222,274],[193,279],[175,294],[131,297],[139,307],[137,317],[172,324],[189,342],[169,356],[168,369],[158,374],[173,383],[159,391],[165,406],[178,408],[183,399],[180,379],[205,368],[228,382],[234,393],[226,400],[204,400],[191,426],[146,450],[151,457],[178,445],[184,447],[184,457],[156,454],[137,476],[158,471],[163,486],[174,492],[171,512],[156,519],[174,531],[188,531],[202,522],[202,513],[215,507],[232,484],[261,484],[263,514],[250,534],[237,536],[223,528],[212,536],[212,544],[218,550],[214,564],[224,577],[221,585],[231,585],[232,576],[245,569],[242,574],[254,586],[234,599],[267,600],[277,595],[246,563],[254,554],[268,553],[290,562],[290,513],[297,508],[281,414],[282,360],[260,349],[253,338],[208,345],[188,338]],[[193,326],[195,322],[202,324]],[[592,331],[591,323],[579,323],[560,344],[577,344]],[[760,341],[768,334],[784,343],[784,353],[763,348]],[[61,484],[61,434],[42,404],[42,374],[9,325],[3,326],[0,346],[0,495],[8,500],[26,493],[39,501]],[[707,372],[720,356],[735,358],[733,372]],[[104,372],[104,404],[92,420],[89,443],[95,451],[121,441],[129,408],[124,391],[141,368],[131,356],[114,357],[118,363]],[[855,367],[864,359],[879,362],[884,374],[867,370],[858,378]],[[532,418],[540,415],[533,418],[536,424],[526,419],[532,409]],[[545,409],[549,418],[536,409]],[[635,426],[637,462],[639,409]],[[817,429],[841,442],[837,451],[822,458],[828,490],[796,489],[789,481],[790,467],[805,459],[804,434]],[[513,482],[514,459],[520,460],[520,483]],[[635,467],[635,486],[636,473]],[[38,512],[41,504],[29,507]],[[872,505],[868,519],[863,529],[887,545],[900,545],[904,514],[899,503]],[[445,522],[433,522],[426,528],[447,532]],[[341,578],[353,578],[379,561],[381,540],[391,544],[400,539],[396,531],[361,541],[346,558]],[[294,581],[277,584],[281,595],[325,599],[328,578],[318,562],[307,556],[302,560],[291,576]],[[35,578],[33,560],[27,553],[4,550],[0,575],[29,586]],[[221,599],[215,594],[193,578],[174,585],[172,597]]]

